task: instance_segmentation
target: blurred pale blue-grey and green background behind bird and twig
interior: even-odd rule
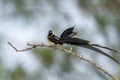
[[[0,80],[109,80],[103,72],[61,51],[38,48],[17,53],[27,42],[48,44],[76,26],[77,37],[120,51],[120,0],[0,0]],[[70,45],[59,46],[70,48]],[[73,46],[74,52],[120,80],[119,65],[96,52]],[[120,54],[104,50],[120,61]]]

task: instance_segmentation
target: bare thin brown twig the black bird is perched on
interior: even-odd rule
[[[77,53],[74,53],[72,51],[69,51],[67,49],[63,49],[63,48],[60,48],[60,47],[57,47],[57,46],[51,46],[51,45],[45,45],[44,43],[41,43],[41,44],[30,44],[30,43],[27,43],[27,45],[29,46],[28,48],[25,48],[25,49],[21,49],[21,50],[18,50],[16,47],[14,47],[10,42],[8,42],[8,44],[16,51],[16,52],[23,52],[23,51],[28,51],[28,50],[32,50],[36,47],[47,47],[47,48],[53,48],[53,49],[57,49],[57,50],[60,50],[60,51],[63,51],[69,55],[72,55],[80,60],[83,60],[85,62],[88,62],[89,64],[91,64],[92,66],[96,67],[97,69],[99,69],[100,71],[102,71],[103,73],[105,73],[106,75],[108,75],[112,80],[117,80],[112,74],[110,74],[109,72],[107,72],[106,70],[104,70],[103,68],[101,68],[100,66],[98,66],[96,63],[84,58],[83,56],[80,56],[78,55]]]

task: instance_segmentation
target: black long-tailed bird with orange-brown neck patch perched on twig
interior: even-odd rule
[[[114,49],[108,48],[108,47],[98,45],[98,44],[91,44],[90,41],[88,41],[88,40],[76,38],[74,36],[77,33],[74,32],[73,29],[74,29],[74,27],[70,27],[70,28],[65,29],[63,31],[63,33],[60,35],[60,37],[57,37],[56,35],[53,34],[52,30],[49,30],[47,38],[54,45],[70,44],[70,45],[75,45],[75,46],[91,49],[95,52],[98,52],[102,55],[109,57],[110,59],[112,59],[113,61],[115,61],[116,63],[119,64],[119,62],[117,60],[115,60],[112,56],[108,55],[107,53],[103,52],[102,50],[98,49],[97,47],[111,50],[111,51],[116,52],[116,53],[120,53],[120,52],[118,52]]]

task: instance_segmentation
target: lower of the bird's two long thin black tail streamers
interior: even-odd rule
[[[107,53],[103,52],[102,50],[100,50],[98,48],[93,47],[92,45],[79,45],[79,46],[87,48],[87,49],[91,49],[91,50],[93,50],[95,52],[98,52],[98,53],[104,55],[104,56],[107,56],[110,59],[112,59],[113,61],[115,61],[117,64],[119,64],[119,62],[116,59],[114,59],[112,56],[108,55]]]

